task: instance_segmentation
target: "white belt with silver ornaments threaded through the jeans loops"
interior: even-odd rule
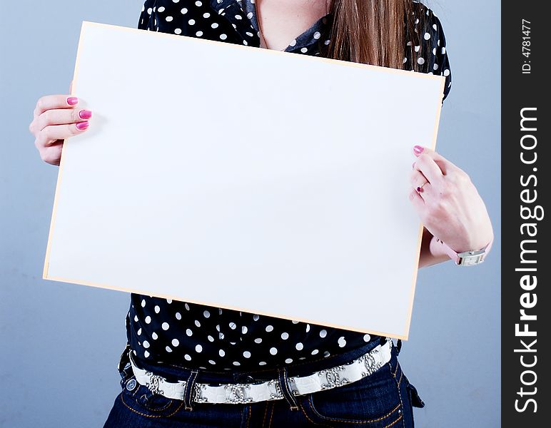
[[[377,345],[352,362],[329,369],[320,370],[308,376],[288,377],[288,387],[293,395],[312,394],[350,384],[369,376],[390,361],[392,341],[387,338],[384,345]],[[161,394],[171,399],[183,400],[186,392],[186,381],[168,382],[164,377],[136,367],[129,352],[130,363],[136,381],[155,394]],[[213,404],[244,404],[263,402],[273,399],[283,399],[283,393],[278,379],[261,383],[244,384],[202,384],[193,385],[191,401]]]

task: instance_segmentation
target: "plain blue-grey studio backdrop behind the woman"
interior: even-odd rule
[[[428,5],[453,71],[437,150],[470,174],[496,240],[479,267],[420,270],[400,361],[427,403],[418,427],[499,427],[500,3]],[[28,126],[40,96],[68,91],[81,21],[135,27],[141,0],[0,6],[0,427],[101,427],[119,391],[129,299],[41,279],[57,168]]]

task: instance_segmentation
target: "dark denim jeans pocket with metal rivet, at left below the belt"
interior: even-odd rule
[[[145,417],[169,417],[183,407],[183,401],[166,398],[138,384],[135,377],[126,380],[121,400],[128,409]]]

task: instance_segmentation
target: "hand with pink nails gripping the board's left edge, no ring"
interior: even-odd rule
[[[36,103],[29,131],[34,145],[46,163],[59,165],[66,138],[88,129],[92,112],[79,108],[79,98],[70,95],[47,95]]]

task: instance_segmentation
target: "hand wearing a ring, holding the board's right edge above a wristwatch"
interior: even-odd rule
[[[410,201],[425,228],[457,253],[490,243],[492,223],[469,175],[430,148],[413,153]]]

